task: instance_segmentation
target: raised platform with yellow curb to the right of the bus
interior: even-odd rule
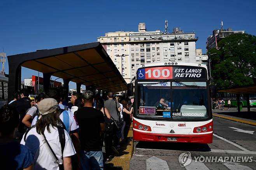
[[[212,116],[256,126],[256,108],[251,108],[250,112],[243,108],[240,113],[237,108],[212,109]]]

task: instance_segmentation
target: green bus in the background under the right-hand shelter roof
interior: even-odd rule
[[[231,101],[231,106],[237,106],[237,95],[233,93],[217,93],[216,99],[223,99],[225,106],[228,106],[228,99]],[[251,107],[256,107],[256,93],[249,94],[249,102]],[[240,106],[247,107],[246,98],[243,94],[240,95]]]

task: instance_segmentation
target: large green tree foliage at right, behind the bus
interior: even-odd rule
[[[256,36],[233,34],[223,38],[218,48],[209,51],[212,83],[218,89],[256,83]]]

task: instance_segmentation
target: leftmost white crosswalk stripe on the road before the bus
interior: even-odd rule
[[[147,170],[169,170],[167,162],[157,158],[156,156],[152,156],[147,159]]]

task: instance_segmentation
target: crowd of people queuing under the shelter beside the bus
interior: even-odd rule
[[[133,99],[50,88],[31,100],[15,91],[0,109],[3,169],[102,170],[119,154],[132,121]],[[103,155],[103,148],[105,154]]]

